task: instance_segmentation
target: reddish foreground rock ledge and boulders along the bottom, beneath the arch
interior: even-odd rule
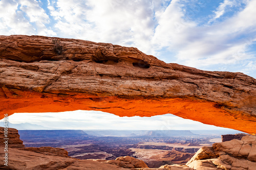
[[[8,166],[0,162],[1,169],[239,169],[253,170],[256,167],[256,136],[246,135],[238,139],[217,142],[209,147],[202,147],[187,161],[186,165],[165,164],[159,168],[148,168],[140,159],[131,156],[121,156],[115,160],[90,159],[80,160],[68,156],[62,148],[24,147],[16,129],[9,128]],[[4,138],[4,128],[0,127],[1,139]],[[142,145],[144,143],[141,143]],[[148,144],[148,143],[147,143]],[[0,143],[0,156],[5,156],[3,142]],[[173,154],[173,153],[172,153]],[[39,158],[39,159],[38,159]]]

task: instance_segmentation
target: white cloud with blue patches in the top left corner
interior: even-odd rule
[[[49,16],[33,0],[2,0],[0,1],[0,33],[2,35],[56,35],[46,27]]]

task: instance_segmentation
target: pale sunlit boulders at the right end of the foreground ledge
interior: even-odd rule
[[[238,169],[256,167],[256,136],[244,136],[201,148],[186,164],[197,170]]]

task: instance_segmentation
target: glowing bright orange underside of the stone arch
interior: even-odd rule
[[[16,96],[2,98],[4,114],[44,113],[74,110],[97,110],[118,116],[155,116],[174,114],[198,122],[255,134],[256,118],[239,112],[229,112],[214,102],[182,98],[120,98],[91,94],[44,94],[11,89]],[[23,96],[22,98],[20,96]],[[234,116],[236,115],[236,116]],[[253,119],[254,118],[254,119]]]

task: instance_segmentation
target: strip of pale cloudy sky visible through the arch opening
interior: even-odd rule
[[[2,125],[3,119],[0,121]],[[40,129],[74,130],[225,130],[212,125],[204,125],[194,120],[173,114],[153,117],[119,117],[101,111],[67,111],[58,113],[14,113],[8,117],[11,124],[34,124]],[[26,126],[26,125],[25,125]],[[33,129],[37,127],[32,127]]]

